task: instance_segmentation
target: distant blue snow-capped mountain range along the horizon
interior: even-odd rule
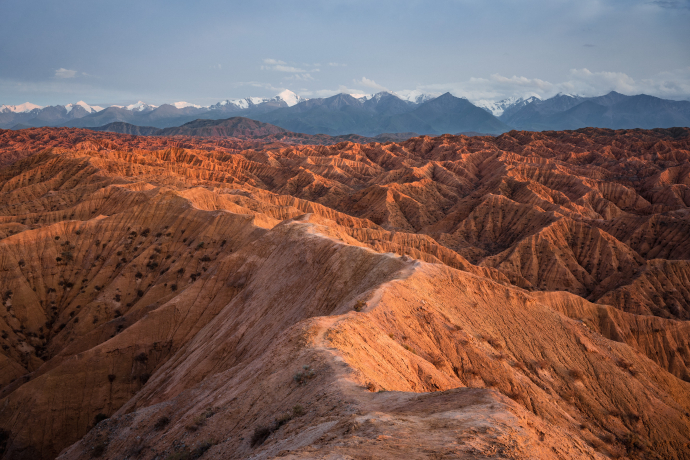
[[[390,92],[374,95],[337,94],[303,99],[285,90],[273,98],[224,100],[202,107],[187,102],[102,108],[83,101],[66,106],[40,107],[26,103],[0,106],[0,128],[101,127],[129,123],[153,128],[177,127],[198,119],[245,117],[289,131],[338,136],[410,132],[428,135],[479,132],[500,134],[512,129],[529,131],[670,128],[690,126],[690,102],[648,95],[610,92],[583,97],[558,94],[549,99],[510,98],[475,104],[450,93],[434,97],[401,97]]]

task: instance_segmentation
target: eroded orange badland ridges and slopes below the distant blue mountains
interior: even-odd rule
[[[2,458],[690,458],[689,160],[0,131]]]

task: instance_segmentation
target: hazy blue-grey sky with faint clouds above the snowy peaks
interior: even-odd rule
[[[690,100],[690,0],[0,0],[0,105]]]

